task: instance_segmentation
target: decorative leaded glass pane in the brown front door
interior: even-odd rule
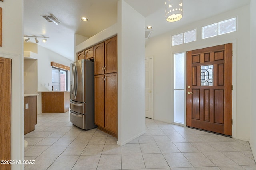
[[[201,66],[201,86],[213,86],[213,65]]]

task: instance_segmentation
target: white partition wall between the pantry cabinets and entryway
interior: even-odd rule
[[[118,145],[145,133],[145,18],[118,1]]]

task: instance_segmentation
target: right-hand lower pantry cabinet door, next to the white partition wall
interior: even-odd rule
[[[117,73],[105,74],[105,129],[117,134]]]

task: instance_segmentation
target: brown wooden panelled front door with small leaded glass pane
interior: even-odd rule
[[[232,136],[232,43],[187,52],[186,125]]]

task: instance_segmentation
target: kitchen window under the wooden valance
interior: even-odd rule
[[[68,71],[52,67],[53,91],[66,91],[68,89]]]

